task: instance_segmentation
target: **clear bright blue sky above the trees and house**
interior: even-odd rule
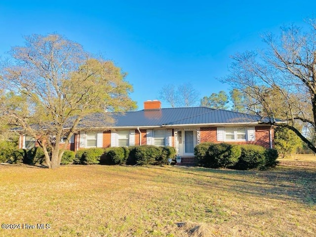
[[[168,83],[191,82],[200,98],[228,92],[216,78],[228,74],[230,55],[261,48],[261,33],[313,16],[313,0],[0,0],[0,56],[25,35],[64,35],[127,72],[143,109]]]

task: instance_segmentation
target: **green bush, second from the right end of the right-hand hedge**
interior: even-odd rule
[[[242,145],[241,155],[235,166],[236,169],[258,169],[265,166],[266,149],[257,145]]]

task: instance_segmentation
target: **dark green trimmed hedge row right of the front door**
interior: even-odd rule
[[[275,167],[278,162],[276,149],[265,149],[257,145],[201,143],[195,147],[194,152],[199,163],[210,168],[267,169]]]

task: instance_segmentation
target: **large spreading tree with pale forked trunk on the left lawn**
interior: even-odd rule
[[[106,111],[135,108],[128,95],[132,86],[118,67],[60,35],[25,37],[25,46],[9,54],[0,71],[0,115],[36,138],[49,168],[59,167],[75,132],[98,121],[110,125]],[[98,119],[91,119],[96,113]]]

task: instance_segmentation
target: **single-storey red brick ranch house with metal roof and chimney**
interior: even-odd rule
[[[114,116],[107,130],[81,131],[72,137],[69,150],[117,146],[172,146],[183,159],[194,158],[202,142],[255,144],[274,147],[274,127],[259,116],[207,107],[161,108],[158,100],[144,102],[144,109]],[[63,142],[63,140],[61,141]],[[35,139],[21,135],[19,148],[36,146]]]

